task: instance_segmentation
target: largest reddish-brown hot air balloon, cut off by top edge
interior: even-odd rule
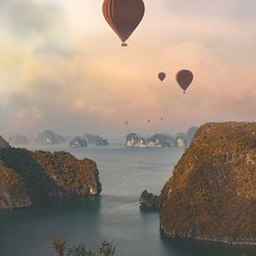
[[[145,6],[142,0],[104,0],[103,15],[108,24],[127,47],[126,41],[140,24]]]

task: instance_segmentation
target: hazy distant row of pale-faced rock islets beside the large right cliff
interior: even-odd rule
[[[189,128],[186,133],[178,133],[175,136],[166,134],[155,134],[149,138],[143,138],[136,133],[127,136],[126,146],[134,148],[165,148],[165,147],[187,147],[192,141],[196,127]]]

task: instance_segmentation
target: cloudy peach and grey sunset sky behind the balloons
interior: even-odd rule
[[[255,121],[256,2],[144,4],[124,48],[100,0],[0,0],[0,134],[117,137]],[[181,69],[195,74],[186,95]]]

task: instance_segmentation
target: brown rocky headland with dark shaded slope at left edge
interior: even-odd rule
[[[25,208],[54,198],[99,195],[96,163],[65,152],[0,149],[0,209]]]

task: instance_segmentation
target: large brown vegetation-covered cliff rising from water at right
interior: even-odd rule
[[[256,244],[256,123],[199,128],[161,205],[167,236]]]

